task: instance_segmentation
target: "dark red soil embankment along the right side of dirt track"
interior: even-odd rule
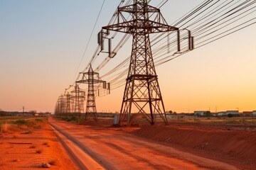
[[[255,130],[236,130],[235,128],[185,126],[146,126],[135,130],[134,135],[158,142],[168,142],[183,147],[203,149],[225,154],[247,162],[256,161]]]

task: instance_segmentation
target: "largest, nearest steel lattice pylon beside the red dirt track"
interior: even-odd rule
[[[126,17],[127,13],[132,16],[129,21],[126,19],[129,18]],[[134,0],[134,4],[118,8],[117,23],[102,27],[102,29],[129,33],[133,36],[132,55],[119,115],[119,125],[126,120],[130,125],[141,114],[149,120],[151,125],[154,125],[157,113],[167,124],[149,34],[177,31],[178,28],[169,26],[159,8],[149,6],[147,0]],[[135,114],[133,115],[132,112]]]

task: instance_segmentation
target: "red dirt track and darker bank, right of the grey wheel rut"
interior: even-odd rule
[[[224,126],[214,128],[207,125],[172,124],[114,128],[111,126],[112,120],[99,120],[97,123],[87,121],[84,125],[53,119],[50,122],[78,141],[106,169],[256,167],[255,154],[252,153],[255,149],[255,132],[251,131],[241,136],[245,132],[228,130]],[[226,131],[231,133],[228,135]],[[221,139],[222,143],[215,143]],[[234,139],[231,143],[225,143],[225,140],[230,142]],[[227,149],[227,145],[231,150]],[[241,148],[242,145],[248,147]]]

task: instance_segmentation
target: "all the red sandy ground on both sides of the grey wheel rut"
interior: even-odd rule
[[[49,122],[105,169],[256,169],[253,126],[139,123],[113,127],[112,119],[87,120],[82,125],[53,118]],[[0,151],[1,170],[43,169],[42,162],[53,160],[58,161],[50,169],[78,169],[48,124],[29,134],[5,134],[0,137]]]

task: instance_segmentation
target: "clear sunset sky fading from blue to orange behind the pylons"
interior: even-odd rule
[[[2,110],[54,111],[58,96],[90,61],[97,32],[107,26],[120,0],[105,1],[92,33],[102,2],[0,0]],[[161,12],[171,24],[201,2],[171,0]],[[253,25],[156,67],[166,110],[255,111],[255,40]],[[123,91],[124,86],[97,97],[97,111],[119,111]]]

